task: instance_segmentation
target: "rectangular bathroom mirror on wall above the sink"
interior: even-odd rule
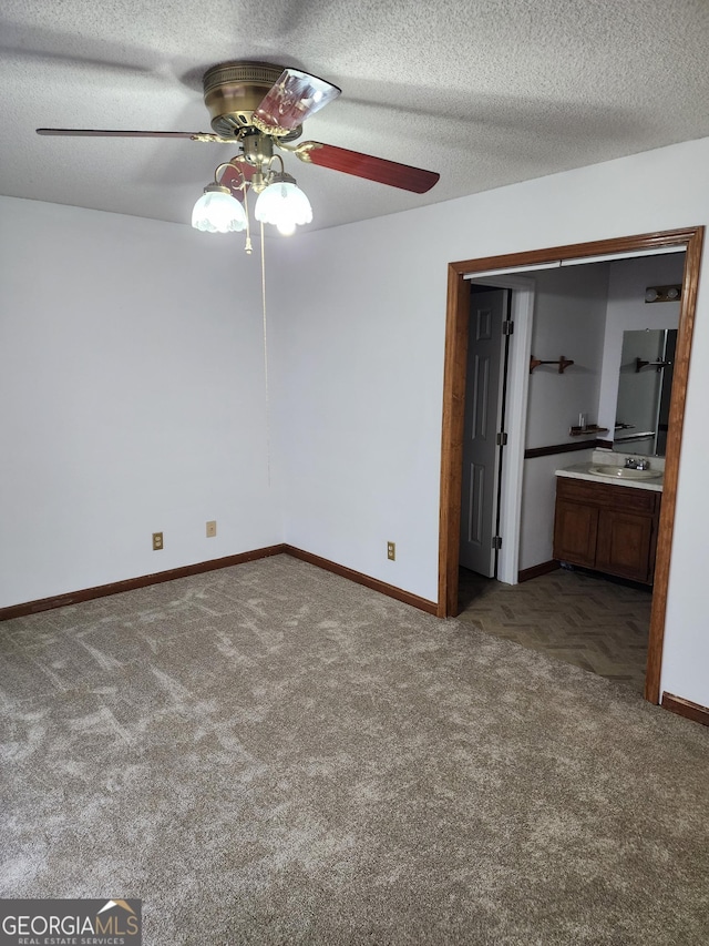
[[[623,333],[613,449],[665,456],[676,328]]]

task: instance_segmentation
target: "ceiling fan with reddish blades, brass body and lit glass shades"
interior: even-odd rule
[[[274,148],[309,164],[415,194],[430,191],[440,177],[433,171],[318,141],[291,145],[302,134],[305,120],[340,94],[337,85],[316,75],[267,62],[225,62],[205,72],[203,88],[213,133],[97,129],[37,129],[37,133],[238,143],[239,153],[216,169],[214,183],[205,187],[195,204],[193,226],[222,233],[246,228],[248,252],[248,214],[242,204],[246,204],[249,190],[258,194],[256,218],[275,223],[281,233],[292,233],[297,224],[312,220],[308,199],[286,173]],[[274,162],[280,164],[280,170],[274,167]]]

